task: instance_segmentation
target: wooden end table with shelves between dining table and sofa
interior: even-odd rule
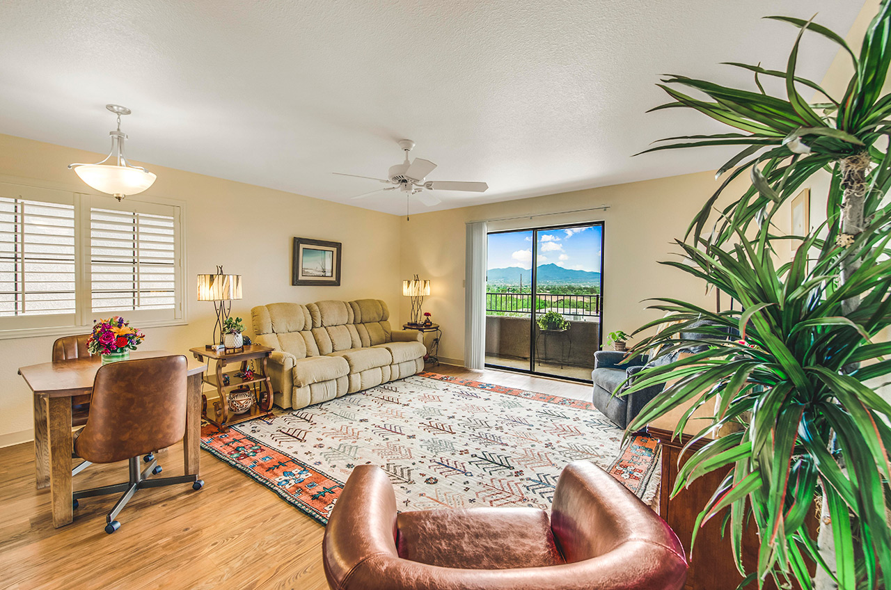
[[[202,381],[217,389],[219,401],[214,402],[212,416],[208,413],[208,397],[201,393],[201,415],[205,420],[217,426],[224,432],[229,427],[239,422],[262,418],[272,414],[273,388],[269,381],[269,373],[266,370],[266,359],[273,353],[274,348],[249,344],[234,350],[213,350],[204,347],[189,348],[195,358],[203,362],[205,357],[217,361],[217,370],[214,374],[204,373]],[[248,368],[248,361],[257,359],[260,363],[259,372],[255,372],[252,379],[237,377],[236,373],[243,373]],[[224,371],[225,367],[233,364],[241,364],[240,370]],[[209,363],[208,363],[209,365]],[[225,384],[224,375],[229,378],[229,384]],[[253,387],[256,383],[263,383],[257,390]],[[229,393],[235,388],[247,385],[251,391],[257,391],[257,399],[253,406],[244,414],[231,414],[229,411]]]

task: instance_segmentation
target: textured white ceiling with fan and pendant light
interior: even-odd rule
[[[413,156],[435,209],[716,168],[722,152],[631,158],[652,140],[714,129],[644,111],[663,73],[750,84],[719,61],[785,70],[791,14],[844,35],[860,0],[28,0],[0,3],[0,132],[107,152],[106,102],[135,111],[134,160],[391,213],[393,193],[349,201]],[[836,53],[805,41],[799,72]],[[73,174],[73,173],[72,173]],[[413,210],[424,209],[413,202]]]

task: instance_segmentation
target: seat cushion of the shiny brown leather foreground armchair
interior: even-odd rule
[[[564,563],[548,513],[536,508],[401,512],[399,557],[442,568],[508,570]]]

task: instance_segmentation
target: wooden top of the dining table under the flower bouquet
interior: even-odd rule
[[[130,360],[155,358],[157,356],[173,356],[175,352],[167,350],[134,350],[130,352]],[[189,375],[204,373],[206,363],[186,357]],[[75,358],[68,361],[54,361],[40,365],[23,366],[19,374],[25,378],[35,395],[46,397],[71,397],[87,393],[93,389],[96,371],[102,366],[100,356]]]

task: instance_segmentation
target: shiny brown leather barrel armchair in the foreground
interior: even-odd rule
[[[593,463],[560,474],[550,518],[533,508],[396,512],[387,473],[360,465],[325,529],[335,590],[679,590],[674,532]]]

